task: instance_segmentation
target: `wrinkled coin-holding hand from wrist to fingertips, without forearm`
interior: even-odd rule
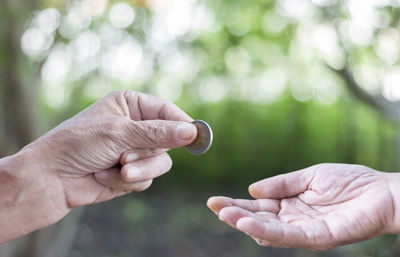
[[[196,138],[191,121],[158,97],[117,91],[24,151],[40,160],[54,183],[61,184],[59,197],[72,208],[147,189],[153,178],[170,170],[166,151]]]

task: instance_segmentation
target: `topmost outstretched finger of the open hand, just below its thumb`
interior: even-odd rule
[[[272,212],[277,214],[280,210],[279,202],[279,200],[275,199],[244,200],[217,196],[208,199],[207,206],[216,214],[222,208],[228,206],[237,206],[251,212]]]

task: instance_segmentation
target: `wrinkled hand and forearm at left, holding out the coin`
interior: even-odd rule
[[[171,168],[167,150],[195,141],[192,121],[158,97],[117,91],[1,159],[0,244],[73,207],[145,190]]]

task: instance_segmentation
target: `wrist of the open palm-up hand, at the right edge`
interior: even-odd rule
[[[389,190],[392,197],[393,221],[388,224],[388,232],[400,233],[400,174],[385,173],[388,179]]]

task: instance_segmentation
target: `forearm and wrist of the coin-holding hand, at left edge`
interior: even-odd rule
[[[53,224],[65,216],[55,200],[60,185],[28,153],[0,159],[0,244]]]

